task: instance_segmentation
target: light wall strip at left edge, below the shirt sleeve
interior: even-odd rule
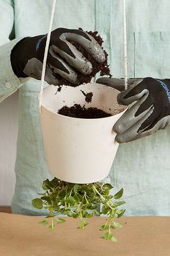
[[[0,206],[10,206],[14,193],[18,92],[0,103]]]

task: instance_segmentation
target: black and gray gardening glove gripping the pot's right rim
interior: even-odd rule
[[[122,90],[124,79],[106,80],[104,84]],[[97,80],[98,83],[101,81]],[[128,89],[118,94],[117,102],[121,105],[132,104],[113,127],[119,143],[143,138],[170,124],[169,79],[130,79]]]

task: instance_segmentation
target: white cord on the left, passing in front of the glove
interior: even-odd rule
[[[48,58],[48,48],[50,44],[50,34],[52,30],[52,25],[53,25],[53,17],[54,17],[54,12],[55,12],[55,4],[56,0],[53,0],[53,6],[50,14],[50,25],[49,25],[49,30],[48,30],[48,37],[47,41],[45,44],[45,53],[44,53],[44,59],[43,59],[43,64],[42,64],[42,74],[41,74],[41,88],[40,88],[40,95],[39,95],[39,110],[41,113],[41,102],[42,102],[42,92],[44,88],[44,79],[45,79],[45,70],[46,70],[46,64],[47,64],[47,58]]]

